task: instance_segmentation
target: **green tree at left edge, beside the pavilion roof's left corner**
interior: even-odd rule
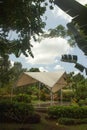
[[[4,55],[4,57],[0,58],[0,87],[14,83],[24,71],[26,71],[26,69],[22,68],[20,62],[15,62],[14,66],[11,67],[9,56]]]

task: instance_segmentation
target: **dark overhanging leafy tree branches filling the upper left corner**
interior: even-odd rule
[[[49,0],[52,3],[52,0]],[[31,36],[42,33],[45,23],[41,16],[46,11],[45,0],[0,1],[0,55],[21,53],[32,56]],[[52,6],[50,6],[52,8]],[[11,40],[9,33],[15,31],[17,38]]]

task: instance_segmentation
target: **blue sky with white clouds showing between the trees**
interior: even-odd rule
[[[87,0],[77,0],[81,4],[87,4]],[[45,20],[47,16],[47,20]],[[66,24],[71,21],[71,17],[63,12],[58,6],[54,6],[54,10],[47,9],[43,20],[46,22],[45,30],[48,31],[50,28],[55,28],[56,26],[62,24],[66,27]],[[34,58],[25,57],[21,55],[16,58],[14,55],[10,56],[11,63],[21,62],[23,68],[39,68],[40,71],[50,71],[55,72],[58,70],[65,70],[67,73],[74,71],[75,73],[80,72],[77,70],[73,63],[62,62],[61,55],[71,54],[78,56],[78,63],[87,67],[87,56],[77,47],[70,47],[67,40],[61,37],[58,38],[45,38],[41,42],[34,42],[31,39],[33,45],[32,52]],[[85,74],[83,72],[83,74]]]

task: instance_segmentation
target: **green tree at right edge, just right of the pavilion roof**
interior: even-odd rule
[[[87,79],[83,75],[70,73],[67,75],[67,82],[72,88],[77,101],[87,98]]]

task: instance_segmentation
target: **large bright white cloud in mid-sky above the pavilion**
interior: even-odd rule
[[[26,62],[31,64],[53,64],[56,57],[69,53],[72,49],[67,40],[61,37],[45,38],[41,43],[32,42],[32,44],[34,45],[32,48],[34,58],[25,58]]]

